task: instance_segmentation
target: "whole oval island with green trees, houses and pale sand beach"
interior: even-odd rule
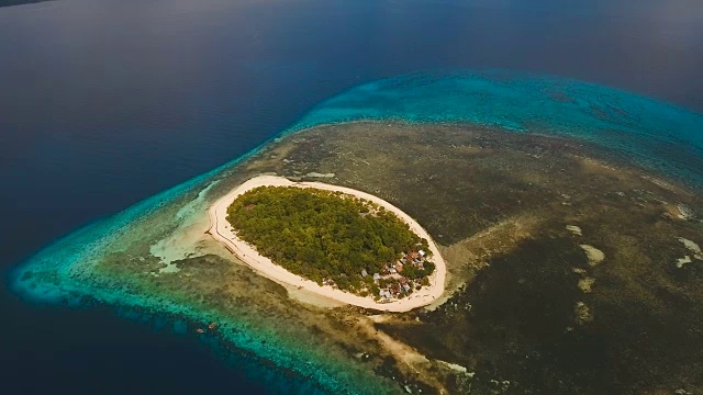
[[[368,193],[259,176],[215,202],[210,217],[216,240],[279,283],[398,312],[444,291],[445,264],[426,230]]]

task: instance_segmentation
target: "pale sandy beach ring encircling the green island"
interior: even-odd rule
[[[399,218],[405,222],[413,233],[422,238],[425,238],[429,244],[429,250],[433,253],[432,261],[436,266],[435,272],[429,276],[429,286],[425,286],[421,291],[415,291],[410,297],[393,301],[390,303],[377,303],[371,297],[361,297],[358,295],[354,295],[333,289],[330,285],[320,286],[314,281],[305,280],[297,274],[289,272],[282,267],[275,264],[270,259],[260,256],[254,247],[241,240],[232,232],[232,226],[226,221],[227,207],[238,195],[254,188],[265,185],[314,188],[326,191],[339,191],[346,194],[368,200],[384,207],[388,211],[391,211]],[[444,259],[442,258],[442,255],[439,255],[439,250],[436,244],[434,242],[432,237],[429,237],[429,234],[427,234],[427,232],[422,226],[420,226],[420,224],[417,224],[408,214],[403,213],[400,208],[371,194],[356,191],[349,188],[325,184],[322,182],[292,182],[282,177],[259,176],[244,182],[243,184],[230,191],[224,196],[220,198],[212,204],[212,206],[210,206],[208,214],[210,216],[210,229],[208,230],[208,233],[215,240],[224,245],[227,250],[230,250],[232,253],[237,256],[237,258],[248,264],[252,269],[276,282],[301,287],[345,304],[389,312],[408,312],[416,307],[428,305],[438,300],[444,293],[446,264]]]

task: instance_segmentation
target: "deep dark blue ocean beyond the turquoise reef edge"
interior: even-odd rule
[[[0,8],[3,272],[75,228],[241,156],[348,88],[459,69],[580,79],[701,113],[703,2]],[[0,314],[2,393],[280,391],[189,336],[109,308],[32,305],[3,281]]]

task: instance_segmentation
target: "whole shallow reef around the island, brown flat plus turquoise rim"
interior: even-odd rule
[[[492,78],[492,100],[504,99],[496,114],[516,108],[511,89],[523,82]],[[465,84],[486,99],[477,81]],[[445,82],[391,79],[323,103],[250,155],[40,251],[18,268],[14,289],[37,302],[185,318],[191,336],[220,340],[252,375],[290,393],[702,393],[700,136],[609,145],[638,122],[655,134],[673,110],[568,83],[528,84],[567,109],[550,102],[544,122],[534,103],[510,125],[417,115],[410,104],[425,100],[431,114],[439,101],[421,93]],[[369,97],[384,98],[376,108],[386,119]],[[398,98],[410,104],[394,108]],[[673,124],[689,134],[703,124],[681,119]],[[408,213],[446,261],[444,297],[384,314],[256,274],[205,230],[213,202],[259,174],[352,188]]]

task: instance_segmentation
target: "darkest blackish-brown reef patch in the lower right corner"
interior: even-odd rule
[[[662,295],[659,307],[638,295],[583,294],[571,270],[583,262],[572,240],[528,240],[421,314],[422,325],[379,328],[476,372],[477,394],[491,393],[490,380],[510,381],[515,394],[641,394],[700,383],[700,307],[680,293]],[[579,302],[591,306],[591,323],[574,323]]]

